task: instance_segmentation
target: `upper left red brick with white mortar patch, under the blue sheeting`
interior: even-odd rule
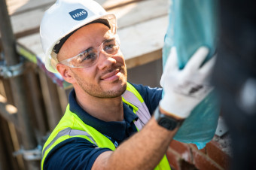
[[[175,150],[177,153],[181,155],[181,158],[184,159],[187,162],[192,162],[192,153],[190,146],[188,144],[181,143],[180,141],[172,140],[169,147],[172,148],[172,150]]]

